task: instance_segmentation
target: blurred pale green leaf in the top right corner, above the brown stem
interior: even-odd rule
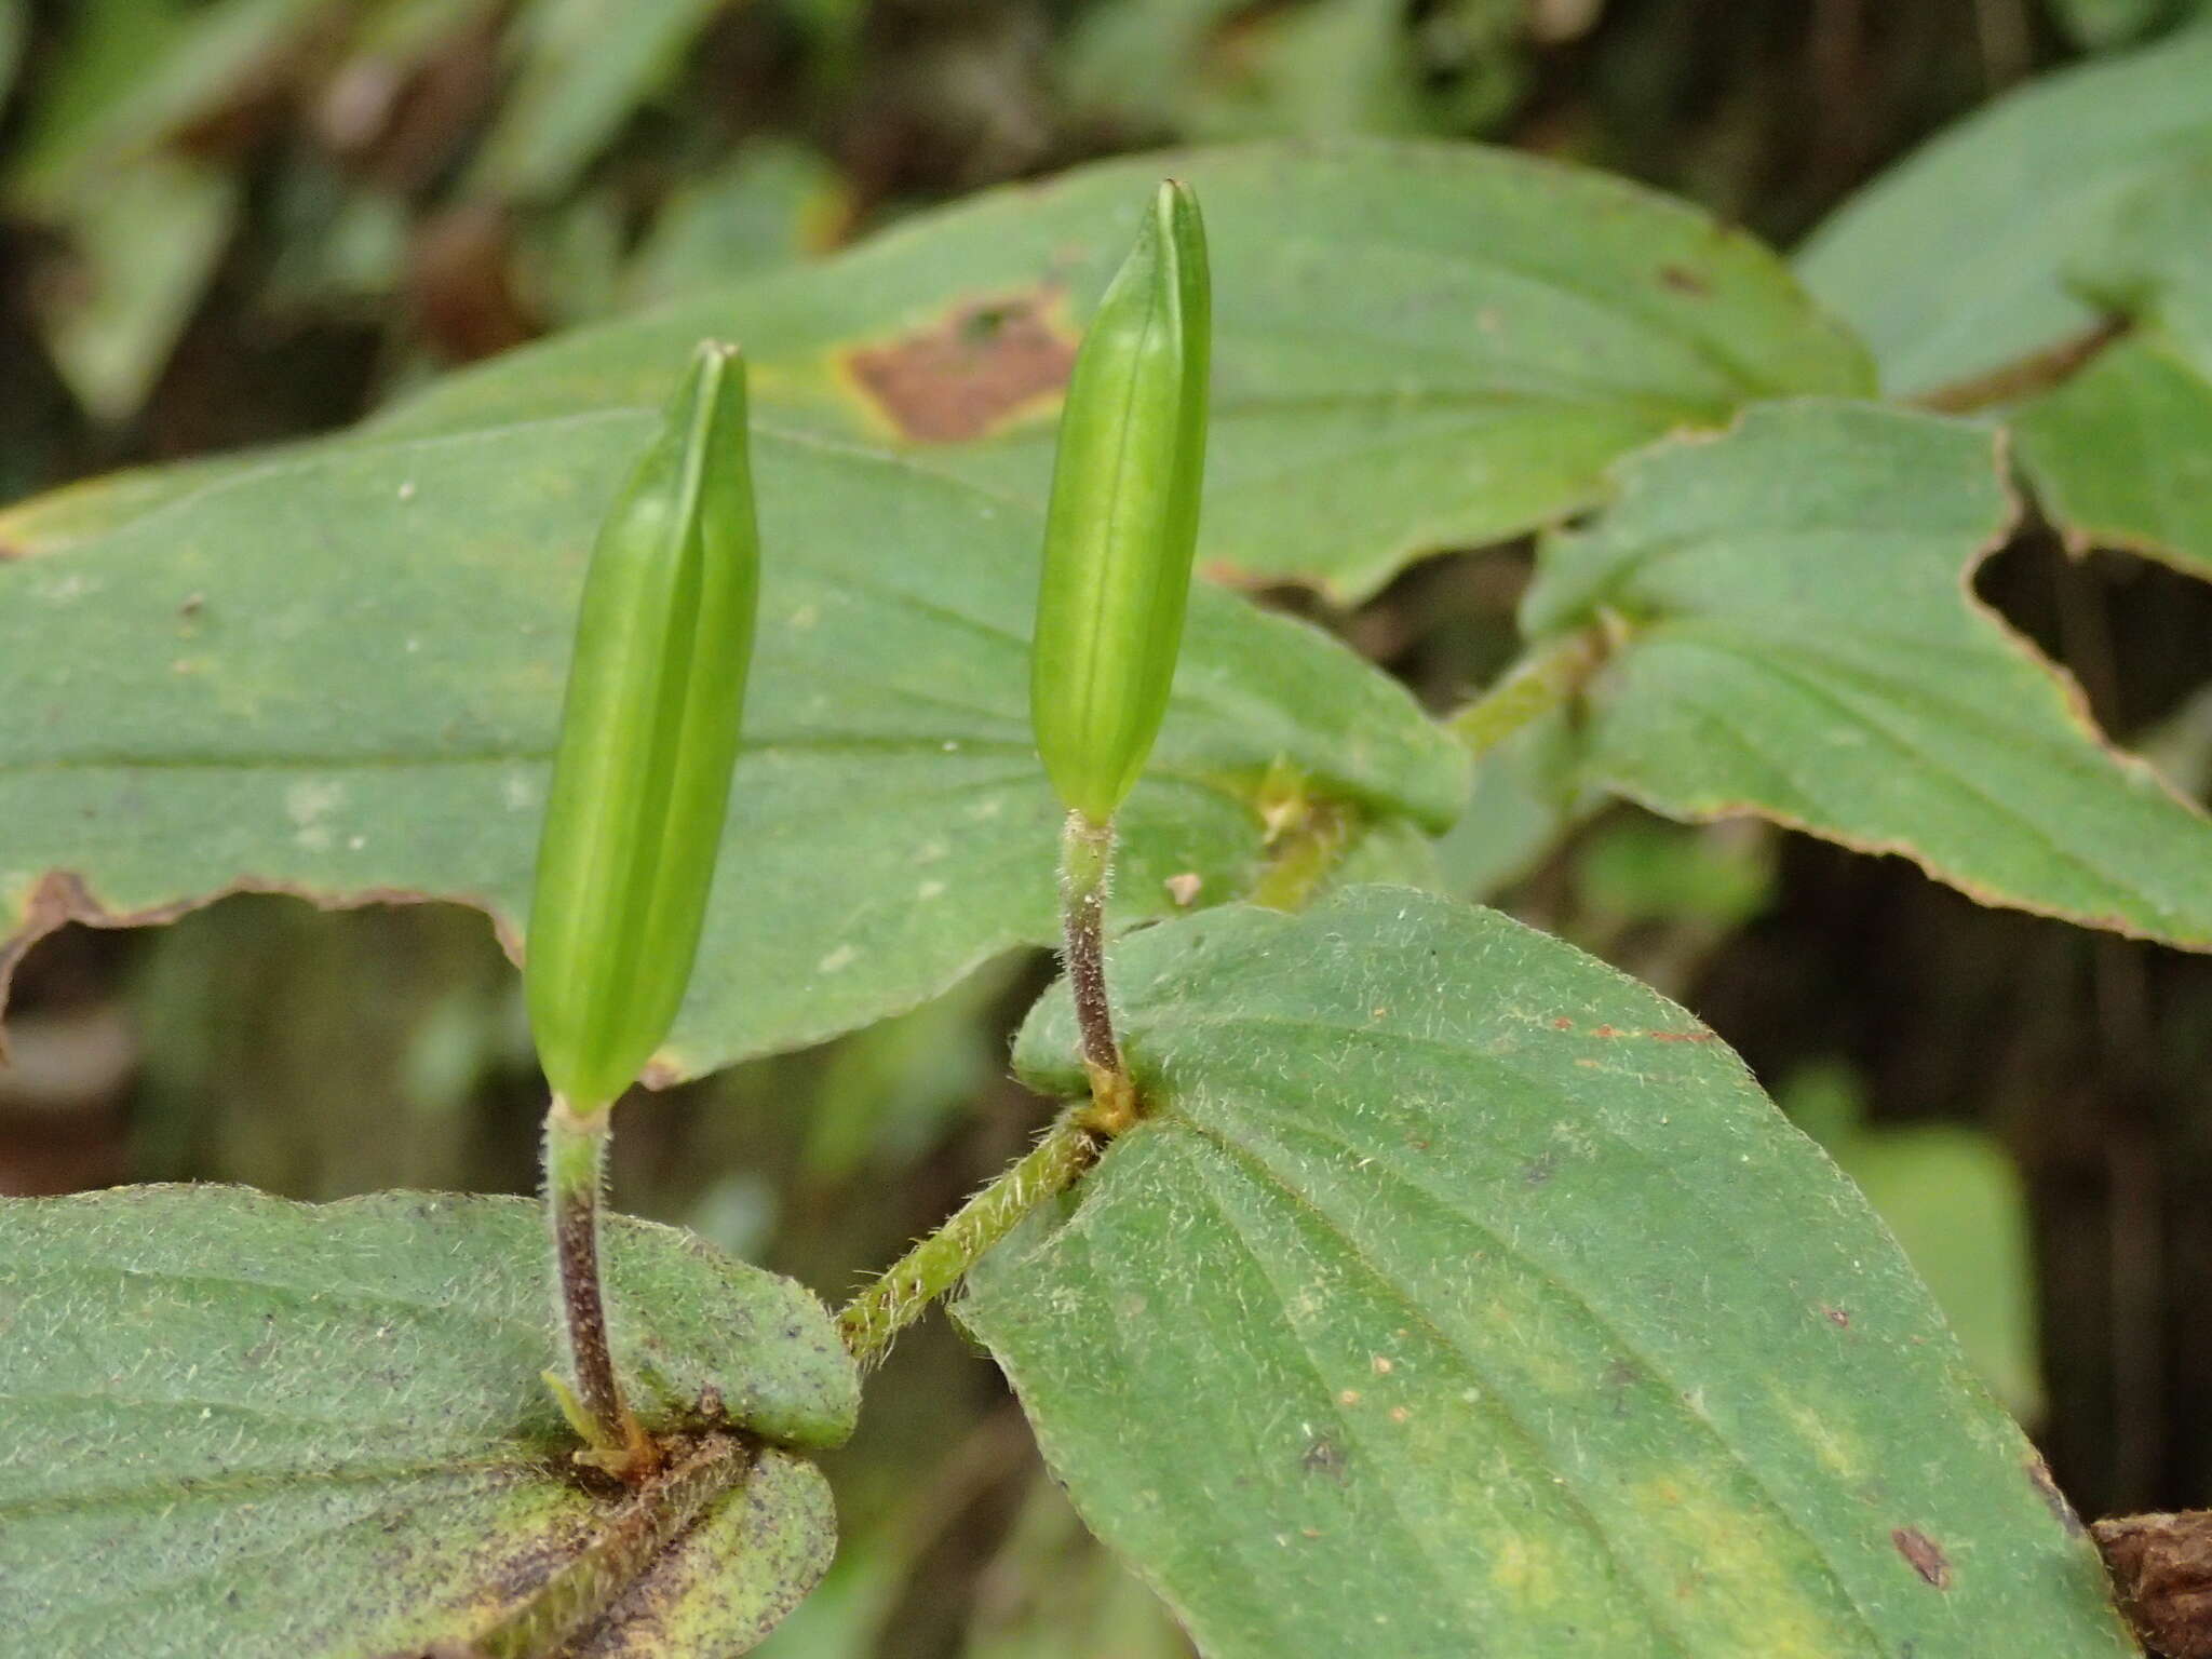
[[[1865,336],[1896,394],[2081,334],[2097,307],[2068,270],[2115,234],[2146,181],[2212,146],[2205,86],[2212,27],[2037,80],[1847,201],[1798,274]]]

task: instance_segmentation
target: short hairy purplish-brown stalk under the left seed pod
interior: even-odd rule
[[[591,1449],[591,1462],[630,1484],[659,1467],[659,1453],[637,1427],[615,1378],[606,1340],[606,1303],[599,1294],[599,1188],[606,1179],[611,1113],[577,1113],[560,1095],[546,1110],[546,1214],[553,1221],[553,1259],[560,1265],[562,1332],[575,1383],[571,1420]]]

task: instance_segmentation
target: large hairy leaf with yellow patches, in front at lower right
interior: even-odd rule
[[[962,1318],[1210,1659],[2132,1655],[1867,1203],[1710,1031],[1363,887],[1113,958],[1152,1117]],[[1071,1088],[1055,993],[1018,1064]]]

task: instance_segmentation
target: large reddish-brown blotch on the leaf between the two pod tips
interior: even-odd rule
[[[847,352],[867,398],[914,442],[964,442],[1068,383],[1075,341],[1055,327],[1055,290],[958,307],[933,327]]]

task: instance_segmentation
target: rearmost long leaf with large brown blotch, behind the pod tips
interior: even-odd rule
[[[1042,502],[1079,325],[1164,175],[1194,184],[1214,257],[1199,562],[1217,573],[1360,597],[1420,553],[1588,504],[1606,462],[1670,429],[1871,385],[1781,263],[1694,208],[1526,155],[1336,142],[995,190],[518,352],[383,429],[657,407],[664,365],[717,336],[743,343],[765,422]],[[42,546],[100,518],[82,495],[55,507],[4,538]]]

